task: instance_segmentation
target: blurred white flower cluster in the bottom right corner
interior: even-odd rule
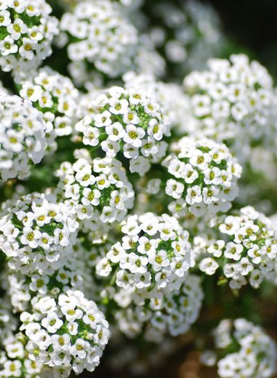
[[[202,361],[217,363],[220,378],[269,378],[276,372],[276,343],[258,325],[242,318],[224,319],[214,338],[217,352],[205,352]]]

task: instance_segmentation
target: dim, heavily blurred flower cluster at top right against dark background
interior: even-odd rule
[[[208,3],[159,2],[152,13],[157,25],[150,24],[150,36],[176,73],[202,69],[208,58],[220,49],[220,20]]]

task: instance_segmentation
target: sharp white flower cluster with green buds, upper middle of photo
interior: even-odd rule
[[[75,126],[83,144],[100,144],[107,157],[123,153],[130,160],[130,171],[140,175],[165,155],[168,117],[145,91],[111,87],[96,98],[93,108],[94,114]]]

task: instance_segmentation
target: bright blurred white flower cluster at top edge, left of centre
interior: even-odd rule
[[[87,70],[111,78],[129,69],[163,71],[163,60],[154,52],[150,39],[140,37],[120,4],[111,0],[79,2],[63,15],[60,28],[66,33],[72,61],[69,70],[78,83],[85,82]]]

